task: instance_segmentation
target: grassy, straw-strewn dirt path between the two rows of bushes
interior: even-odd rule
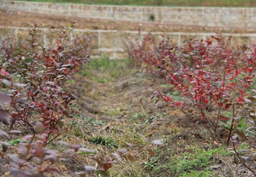
[[[73,129],[60,140],[94,149],[96,154],[81,154],[77,160],[59,164],[60,176],[75,176],[84,165],[96,165],[92,157],[103,159],[127,148],[125,142],[142,145],[139,134],[150,141],[163,138],[166,148],[154,148],[156,157],[135,153],[133,164],[120,160],[109,170],[109,176],[180,176],[185,174],[182,170],[190,171],[187,176],[193,176],[193,170],[202,172],[202,176],[249,176],[248,170],[237,167],[234,156],[223,156],[230,153],[213,143],[196,118],[185,117],[165,102],[150,100],[157,90],[176,100],[182,98],[164,79],[130,67],[128,60],[94,59],[69,81],[68,87],[77,96],[73,115],[67,120]],[[57,142],[52,146],[61,148]]]

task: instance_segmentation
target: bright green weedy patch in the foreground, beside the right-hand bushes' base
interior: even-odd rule
[[[231,154],[225,147],[202,149],[199,146],[186,148],[181,154],[174,154],[168,149],[167,162],[161,163],[161,153],[145,163],[145,169],[151,173],[167,173],[168,176],[209,176],[207,167],[216,154],[227,156]]]

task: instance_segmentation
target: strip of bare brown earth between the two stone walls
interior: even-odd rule
[[[238,32],[250,33],[255,29],[229,29],[225,27],[202,27],[202,26],[183,26],[177,24],[157,24],[157,23],[133,23],[127,21],[115,21],[105,19],[88,19],[81,17],[53,16],[48,14],[37,14],[23,11],[0,10],[0,26],[3,27],[30,27],[35,22],[41,28],[56,28],[67,26],[71,21],[76,21],[75,28],[91,30],[131,30],[137,31],[160,31],[160,32]]]

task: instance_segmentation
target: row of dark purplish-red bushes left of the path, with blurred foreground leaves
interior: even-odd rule
[[[50,47],[44,48],[38,42],[37,28],[38,24],[33,25],[27,42],[9,37],[0,43],[0,122],[6,129],[0,130],[3,147],[0,171],[10,171],[10,176],[44,176],[48,172],[58,172],[54,164],[69,156],[78,156],[78,151],[94,153],[94,150],[67,142],[59,142],[66,147],[62,152],[48,148],[61,135],[72,132],[70,105],[78,98],[72,91],[66,92],[65,83],[89,62],[92,36],[71,40],[72,29],[63,28]],[[11,134],[23,137],[18,149],[8,148],[7,140],[13,137]],[[152,146],[164,146],[161,139],[150,143],[140,136],[143,145],[135,147],[126,143],[129,149],[113,152],[112,158],[96,154],[99,158],[91,159],[97,163],[97,168],[85,166],[84,171],[77,174],[106,174],[119,158],[134,162],[133,154],[137,151],[145,150],[155,156]]]

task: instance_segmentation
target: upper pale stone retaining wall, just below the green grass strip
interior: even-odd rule
[[[256,8],[110,6],[0,0],[0,9],[185,26],[256,28]]]

